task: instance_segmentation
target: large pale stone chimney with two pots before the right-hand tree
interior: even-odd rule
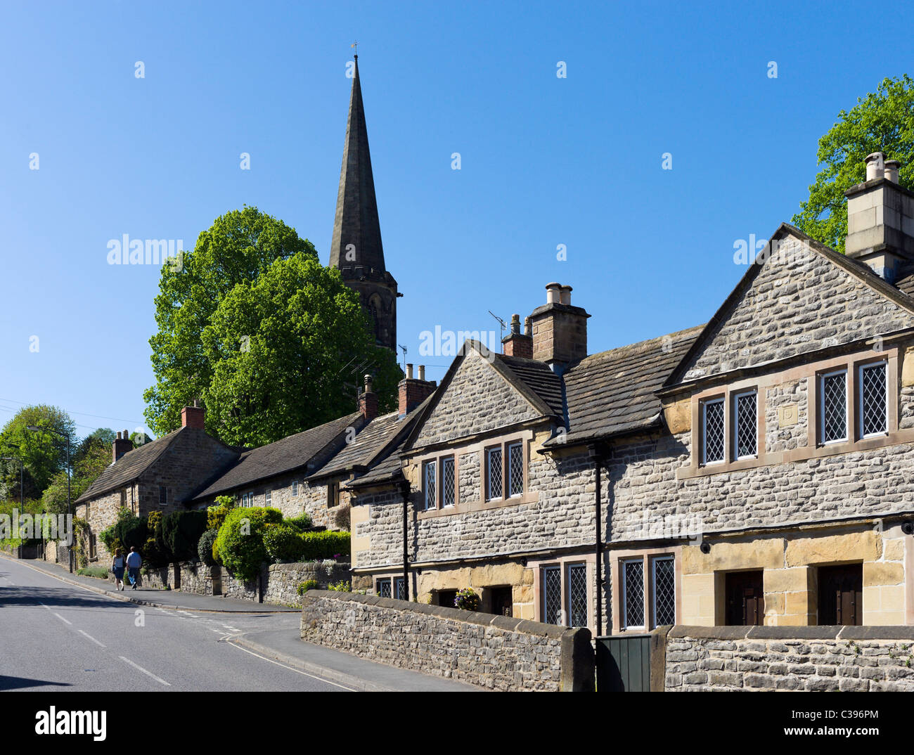
[[[889,283],[914,261],[914,193],[898,184],[898,160],[866,155],[866,181],[845,191],[845,254],[866,263]]]

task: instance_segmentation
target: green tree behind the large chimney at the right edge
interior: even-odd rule
[[[886,79],[877,91],[858,99],[850,112],[819,140],[816,158],[824,167],[809,187],[793,224],[835,250],[845,250],[845,191],[866,180],[867,154],[883,152],[899,160],[901,186],[914,189],[914,80],[905,74]]]

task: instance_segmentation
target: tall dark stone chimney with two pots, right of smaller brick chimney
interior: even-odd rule
[[[533,326],[533,358],[561,374],[565,367],[587,356],[587,318],[590,314],[571,304],[571,286],[549,283],[546,303],[529,319]]]

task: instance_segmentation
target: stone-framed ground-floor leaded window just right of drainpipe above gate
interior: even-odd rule
[[[681,550],[611,553],[611,632],[647,632],[677,621],[681,616]]]

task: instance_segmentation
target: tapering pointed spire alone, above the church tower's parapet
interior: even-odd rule
[[[371,173],[362,86],[358,79],[358,56],[349,98],[349,120],[345,129],[343,167],[336,195],[334,238],[330,246],[330,264],[343,271],[343,277],[354,274],[356,267],[384,272],[384,248],[381,224],[377,218],[375,179]],[[347,274],[348,273],[348,274]]]

